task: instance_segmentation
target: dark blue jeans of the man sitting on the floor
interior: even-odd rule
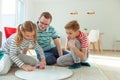
[[[67,51],[62,50],[63,55],[68,54]],[[59,57],[57,47],[53,47],[48,51],[44,51],[45,58],[46,58],[46,64],[47,65],[53,65],[57,62],[57,58]],[[38,59],[40,60],[40,55],[37,54]]]

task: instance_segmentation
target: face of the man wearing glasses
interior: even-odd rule
[[[45,31],[47,29],[47,27],[49,26],[51,22],[51,19],[46,19],[44,16],[42,16],[40,19],[39,19],[39,28],[41,31]]]

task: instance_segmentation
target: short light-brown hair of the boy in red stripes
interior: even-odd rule
[[[65,29],[72,29],[73,31],[77,31],[80,29],[80,25],[76,20],[72,20],[65,25]]]

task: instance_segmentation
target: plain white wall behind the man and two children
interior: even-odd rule
[[[94,15],[86,14],[94,10]],[[103,32],[103,49],[112,49],[113,41],[120,39],[120,0],[26,0],[26,20],[36,21],[43,11],[53,16],[53,25],[65,43],[64,25],[73,19],[80,22],[81,28],[99,29]],[[70,12],[78,11],[78,15]]]

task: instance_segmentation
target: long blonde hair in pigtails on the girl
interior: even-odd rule
[[[33,39],[34,43],[37,42],[37,27],[32,21],[25,21],[23,24],[19,24],[17,27],[17,35],[15,37],[16,45],[20,46],[23,40],[22,32],[35,32]]]

